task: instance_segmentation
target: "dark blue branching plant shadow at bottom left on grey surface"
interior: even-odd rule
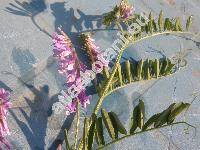
[[[52,105],[57,99],[57,94],[49,97],[49,86],[44,85],[39,89],[35,88],[33,85],[24,83],[25,86],[31,90],[34,94],[34,99],[31,100],[24,97],[28,107],[30,108],[30,114],[26,112],[26,108],[19,108],[20,113],[25,118],[25,122],[21,121],[19,117],[15,114],[13,110],[10,110],[11,115],[19,125],[21,131],[25,135],[27,142],[31,149],[44,150],[45,149],[45,137],[46,129],[48,124],[48,118],[52,115]],[[69,117],[65,120],[65,123],[61,128],[69,128],[73,117]],[[62,132],[59,133],[58,137],[64,139]],[[62,140],[63,140],[62,139]],[[56,140],[57,141],[57,140]],[[56,149],[59,143],[53,142],[51,147]]]

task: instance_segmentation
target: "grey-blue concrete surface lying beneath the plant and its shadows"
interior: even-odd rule
[[[8,123],[11,129],[12,149],[43,150],[55,149],[56,140],[63,141],[63,130],[69,128],[70,140],[73,135],[73,115],[53,115],[51,106],[57,101],[64,79],[57,73],[56,61],[52,58],[50,35],[59,26],[73,39],[79,57],[77,35],[82,31],[103,29],[99,20],[110,11],[119,0],[1,0],[0,1],[0,87],[11,91],[13,103],[9,111]],[[194,15],[191,31],[200,30],[199,0],[134,0],[137,12],[158,15],[162,9],[165,16]],[[114,31],[95,31],[94,37],[106,49],[117,38]],[[176,74],[133,84],[106,97],[103,107],[115,111],[129,126],[129,117],[137,99],[145,101],[147,117],[165,109],[170,103],[191,102],[193,94],[200,92],[200,36],[170,35],[158,36],[131,45],[124,58],[158,58],[162,54],[173,57],[185,51],[188,64]],[[160,53],[160,51],[162,53]],[[86,115],[97,101],[93,95]],[[192,104],[186,119],[197,127],[178,125],[160,129],[126,139],[110,149],[124,150],[198,150],[200,149],[200,97]],[[82,115],[83,118],[83,115]],[[64,144],[63,144],[64,149]]]

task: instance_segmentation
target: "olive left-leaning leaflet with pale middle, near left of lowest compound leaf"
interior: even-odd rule
[[[115,139],[115,130],[110,120],[110,117],[105,109],[101,109],[101,114],[103,118],[103,122],[108,130],[108,133],[112,139]]]

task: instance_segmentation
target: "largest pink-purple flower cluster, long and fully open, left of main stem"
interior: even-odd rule
[[[78,60],[75,49],[68,38],[68,36],[60,30],[61,34],[55,33],[53,35],[53,56],[58,59],[58,72],[66,77],[66,86],[70,88],[75,85],[79,89],[77,97],[73,98],[65,106],[66,114],[69,115],[76,111],[77,101],[82,107],[86,107],[89,104],[90,96],[86,95],[85,88],[82,86],[81,74],[84,72],[86,67]],[[69,95],[70,96],[70,95]],[[69,99],[68,96],[60,96],[66,101]]]

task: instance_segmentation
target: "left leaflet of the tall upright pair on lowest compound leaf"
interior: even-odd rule
[[[139,106],[136,106],[131,116],[130,134],[133,134],[138,127],[138,111],[139,111]]]

